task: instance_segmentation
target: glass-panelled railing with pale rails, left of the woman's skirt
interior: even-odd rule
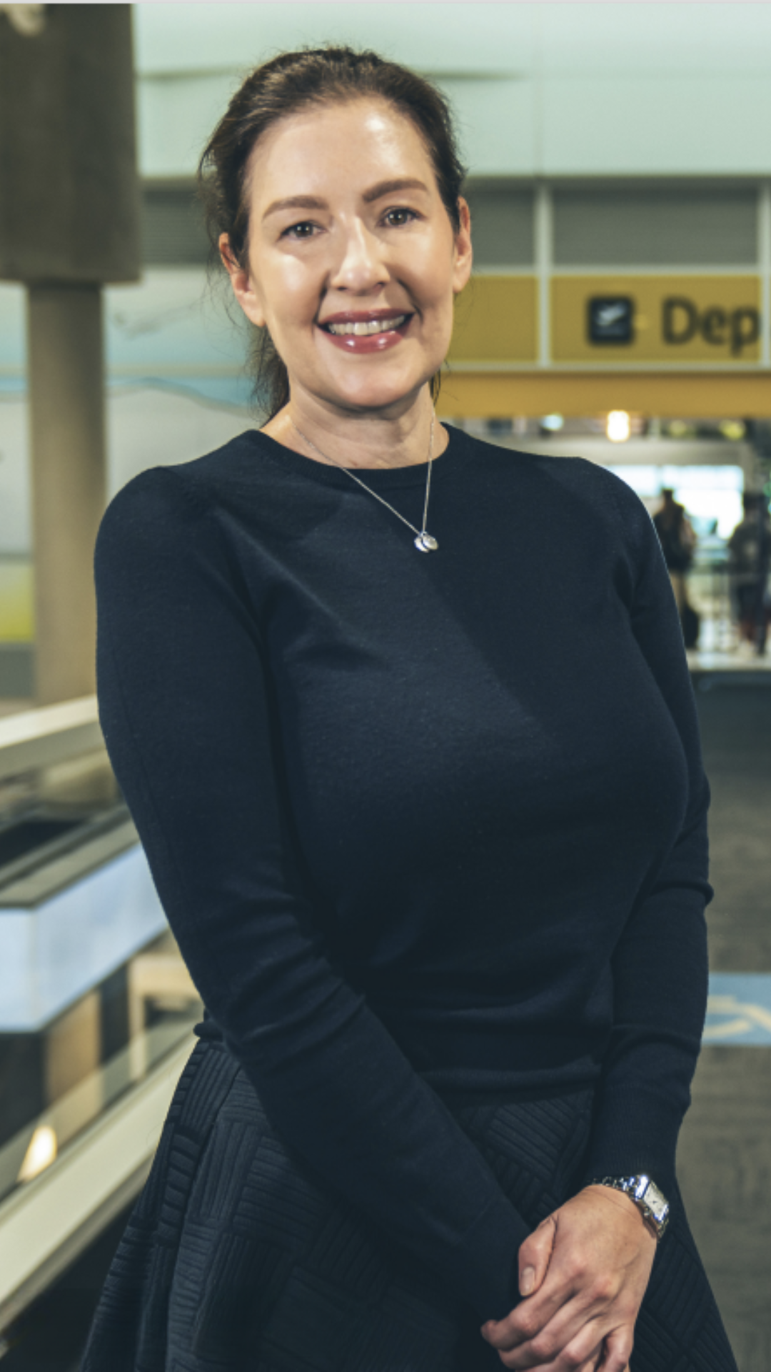
[[[96,697],[1,718],[0,1331],[141,1188],[200,1013]]]

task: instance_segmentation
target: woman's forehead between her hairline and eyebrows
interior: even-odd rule
[[[413,121],[384,100],[313,104],[273,123],[248,162],[252,204],[276,193],[364,188],[420,177],[435,189],[428,148]],[[302,184],[300,184],[302,182]]]

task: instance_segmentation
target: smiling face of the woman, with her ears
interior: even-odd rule
[[[455,233],[412,121],[369,99],[288,115],[252,152],[248,198],[247,269],[220,246],[292,398],[402,412],[444,361],[471,273],[468,209]]]

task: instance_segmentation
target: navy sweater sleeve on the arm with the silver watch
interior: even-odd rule
[[[643,884],[612,960],[613,1025],[583,1180],[646,1172],[667,1190],[707,1008],[709,788],[661,549],[642,502],[621,482],[613,488],[630,557],[631,628],[679,737],[687,805],[676,841]]]

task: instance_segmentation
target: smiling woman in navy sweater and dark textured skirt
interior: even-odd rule
[[[635,1325],[634,1372],[730,1372],[674,1173],[708,793],[650,520],[435,420],[471,233],[423,80],[285,54],[203,166],[273,405],[99,536],[104,735],[207,1018],[85,1372],[621,1372]]]

